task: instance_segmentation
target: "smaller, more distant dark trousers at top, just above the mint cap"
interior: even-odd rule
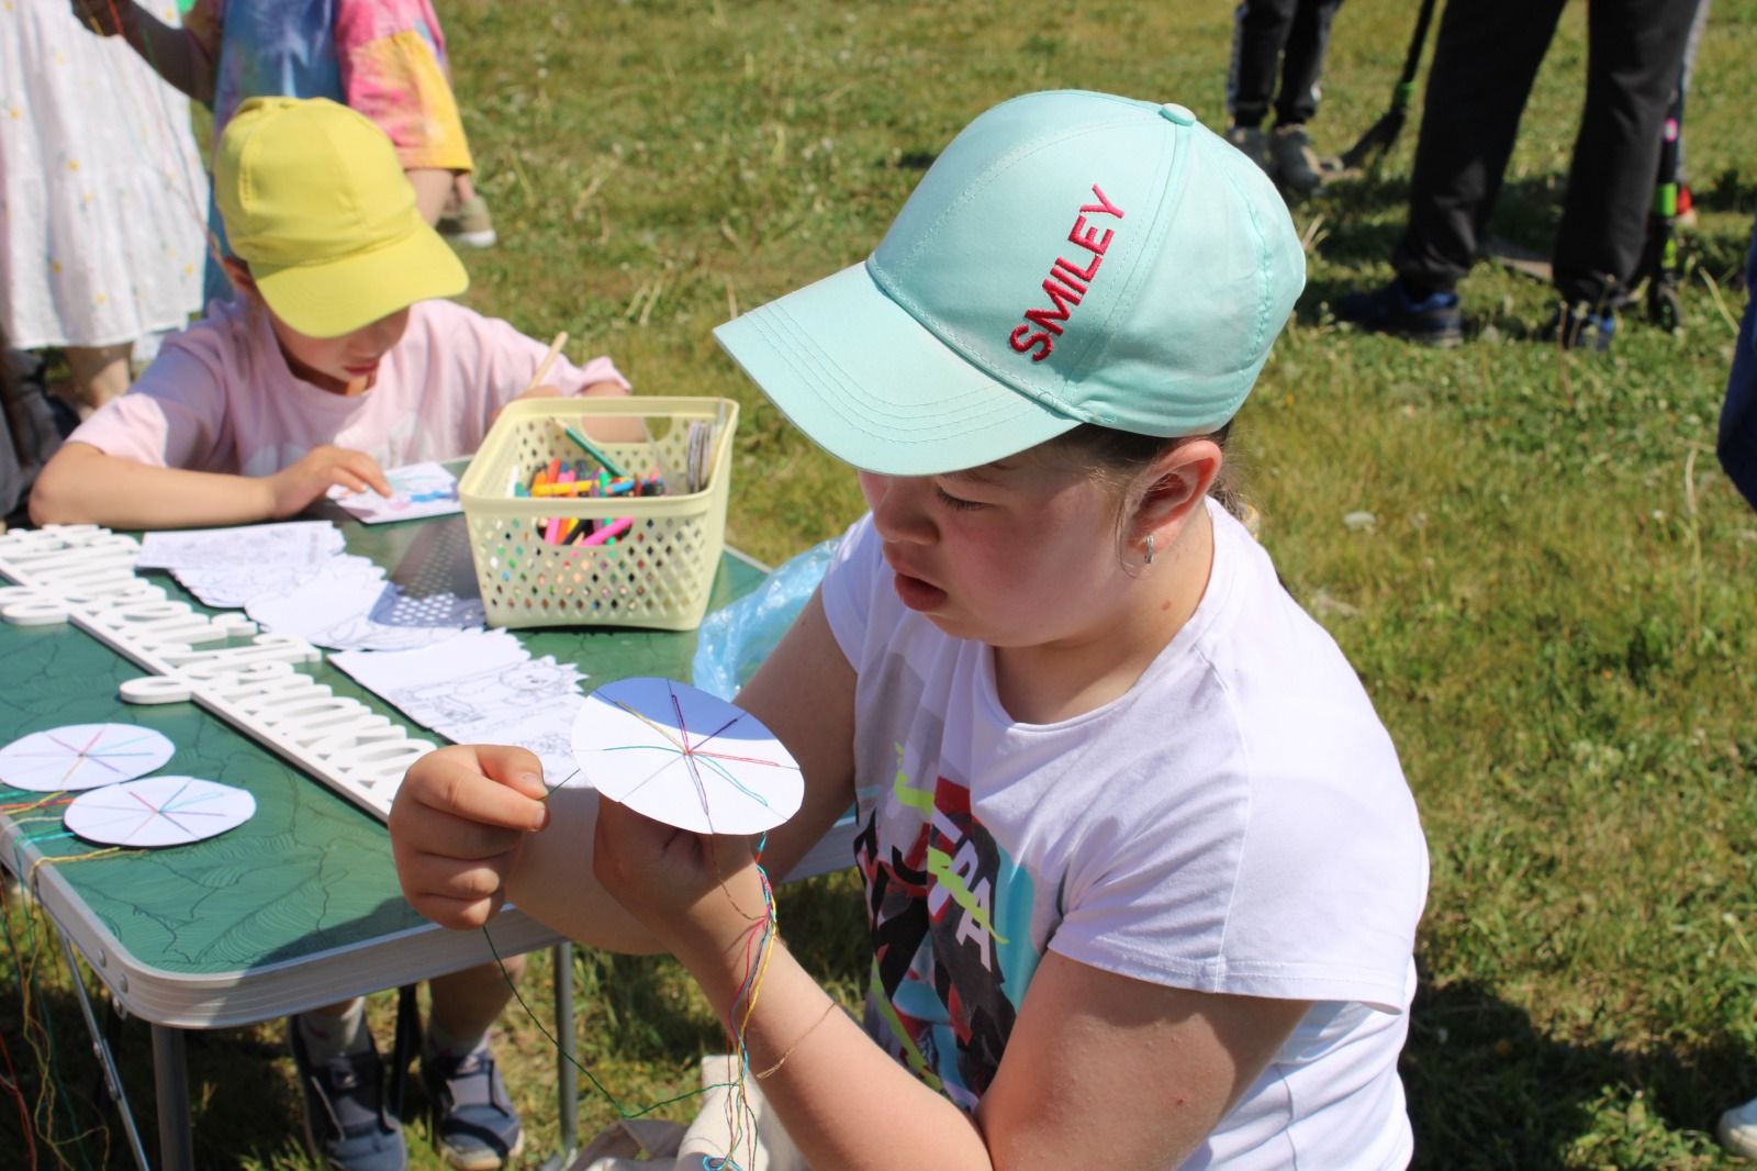
[[[1342,0],[1244,0],[1232,26],[1226,107],[1240,127],[1258,127],[1276,104],[1276,125],[1318,113],[1318,77],[1330,44],[1330,21]],[[1276,93],[1276,65],[1281,91]]]

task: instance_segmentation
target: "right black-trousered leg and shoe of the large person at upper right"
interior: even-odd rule
[[[1696,5],[1594,0],[1587,9],[1587,109],[1555,236],[1557,329],[1601,348],[1641,264],[1660,125],[1683,69]]]

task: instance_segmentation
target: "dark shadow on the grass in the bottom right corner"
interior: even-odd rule
[[[1715,1118],[1757,1092],[1757,1053],[1557,1041],[1465,981],[1416,995],[1402,1076],[1416,1171],[1703,1166]]]

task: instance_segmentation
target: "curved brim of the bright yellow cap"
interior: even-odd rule
[[[286,267],[253,262],[249,274],[274,315],[307,338],[339,338],[416,301],[469,288],[464,262],[425,220],[371,251]]]

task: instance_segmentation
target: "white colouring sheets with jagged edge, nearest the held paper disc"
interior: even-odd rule
[[[576,772],[571,731],[585,677],[553,656],[532,659],[504,629],[464,631],[418,651],[346,651],[330,663],[448,740],[531,749],[552,788]]]

